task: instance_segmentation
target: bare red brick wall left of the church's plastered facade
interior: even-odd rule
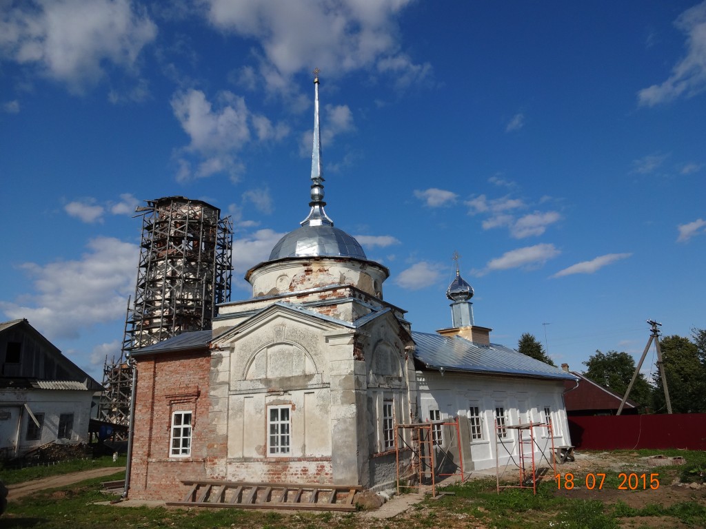
[[[208,420],[210,353],[160,353],[136,357],[135,432],[128,496],[177,501],[187,487],[180,480],[207,479],[204,461]],[[172,412],[191,410],[191,456],[169,457]]]

